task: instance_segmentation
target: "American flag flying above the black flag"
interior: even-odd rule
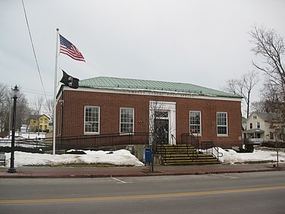
[[[76,46],[74,46],[70,41],[61,36],[61,34],[59,34],[59,38],[61,41],[61,49],[59,50],[59,53],[66,54],[67,56],[70,56],[71,58],[78,61],[85,61],[83,55],[80,51],[78,51]]]

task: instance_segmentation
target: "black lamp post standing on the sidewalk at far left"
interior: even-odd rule
[[[8,169],[8,173],[16,173],[16,169],[14,168],[14,147],[15,147],[15,126],[16,126],[16,103],[17,98],[19,97],[19,89],[18,86],[12,90],[12,98],[14,99],[13,105],[13,118],[12,118],[12,139],[11,139],[11,161],[10,168]]]

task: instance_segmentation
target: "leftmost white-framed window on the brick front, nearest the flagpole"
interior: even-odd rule
[[[85,106],[84,112],[84,133],[98,134],[99,133],[99,113],[100,108],[97,106]]]

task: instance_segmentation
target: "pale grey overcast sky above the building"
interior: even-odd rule
[[[254,24],[285,36],[284,0],[24,4],[48,98],[53,98],[56,28],[86,59],[84,63],[59,56],[58,65],[71,76],[175,81],[215,89],[254,69],[252,60],[259,59],[251,52],[248,34]],[[28,98],[43,93],[21,0],[0,0],[0,29],[0,82],[21,86]],[[262,76],[259,86],[261,82]]]

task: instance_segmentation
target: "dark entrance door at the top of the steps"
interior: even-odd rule
[[[157,144],[169,144],[168,119],[155,119],[155,140]]]

